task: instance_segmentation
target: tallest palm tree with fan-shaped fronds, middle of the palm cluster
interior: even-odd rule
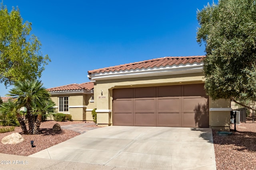
[[[43,87],[41,81],[25,80],[15,82],[14,88],[9,91],[8,96],[13,97],[14,102],[16,102],[20,107],[24,106],[27,109],[26,114],[29,130],[26,134],[38,134],[42,117],[33,111],[33,107],[39,103],[44,103],[44,101],[51,100],[49,92]]]

